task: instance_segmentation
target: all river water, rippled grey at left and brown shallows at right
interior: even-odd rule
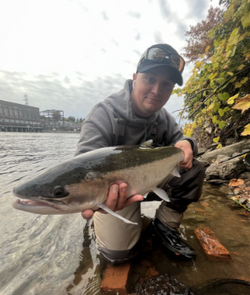
[[[73,157],[79,134],[0,133],[0,294],[99,295],[101,263],[92,221],[80,214],[46,216],[15,210],[13,188],[39,171]],[[143,203],[144,223],[159,202]],[[194,230],[208,227],[232,259],[209,261]],[[175,275],[188,286],[215,278],[250,280],[249,215],[230,203],[218,187],[206,185],[192,204],[180,229],[196,249],[196,260],[176,261],[156,248],[145,251],[160,273]],[[137,265],[136,265],[137,263]],[[135,262],[132,280],[142,274]]]

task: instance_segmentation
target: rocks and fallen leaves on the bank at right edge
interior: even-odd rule
[[[225,196],[250,211],[250,139],[199,149],[197,160],[206,169],[205,182],[219,185]]]

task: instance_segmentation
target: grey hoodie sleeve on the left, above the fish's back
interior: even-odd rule
[[[75,156],[114,145],[115,125],[112,111],[102,103],[96,105],[82,124]]]

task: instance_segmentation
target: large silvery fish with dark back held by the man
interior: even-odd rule
[[[38,214],[68,214],[105,206],[111,184],[126,182],[128,197],[155,192],[169,201],[158,186],[183,159],[176,147],[116,146],[90,151],[45,170],[19,184],[13,193],[19,199],[13,207]],[[118,218],[121,216],[117,215]]]

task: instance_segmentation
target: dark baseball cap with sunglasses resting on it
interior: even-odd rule
[[[141,56],[136,73],[144,73],[155,67],[165,66],[171,68],[174,82],[182,86],[182,72],[185,67],[184,59],[168,44],[155,44],[149,47]]]

